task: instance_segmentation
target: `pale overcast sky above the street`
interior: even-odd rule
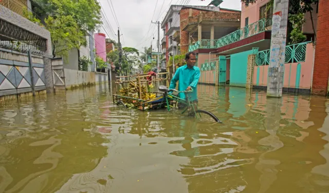
[[[109,36],[109,38],[114,39],[113,33],[118,33],[118,25],[115,16],[113,16],[115,12],[121,29],[122,36],[120,38],[123,47],[135,47],[143,50],[142,47],[150,47],[152,43],[153,48],[157,51],[157,25],[151,24],[151,21],[162,22],[170,5],[186,5],[189,2],[188,5],[207,6],[211,0],[99,0],[99,2],[108,21],[103,26],[105,30],[104,28],[100,29],[101,32],[105,32],[106,38]],[[221,7],[241,10],[241,2],[240,0],[224,0]],[[114,8],[114,12],[111,8]],[[117,36],[115,38],[118,40]],[[161,39],[162,30],[160,29],[160,41]]]

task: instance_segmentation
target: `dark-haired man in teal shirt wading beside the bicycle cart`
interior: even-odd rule
[[[195,65],[196,58],[194,52],[188,52],[185,55],[186,65],[177,68],[173,79],[170,82],[169,89],[175,89],[176,82],[178,81],[178,91],[190,91],[193,89],[193,92],[190,93],[191,100],[197,103],[197,91],[196,86],[200,78],[200,69]],[[185,100],[185,94],[179,93],[179,98]],[[185,105],[178,103],[178,108],[184,108]]]

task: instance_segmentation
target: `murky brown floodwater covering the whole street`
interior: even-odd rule
[[[0,192],[329,192],[324,97],[199,85],[199,108],[117,107],[107,85],[0,107]]]

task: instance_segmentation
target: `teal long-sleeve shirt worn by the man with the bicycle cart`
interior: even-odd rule
[[[193,92],[190,94],[191,99],[197,100],[196,86],[200,78],[200,69],[197,66],[188,68],[187,65],[177,68],[173,79],[171,79],[169,89],[175,89],[176,82],[178,81],[178,91],[185,91],[187,87],[191,86]],[[179,98],[185,100],[185,94],[179,93]]]

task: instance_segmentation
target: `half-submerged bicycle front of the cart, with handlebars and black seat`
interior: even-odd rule
[[[216,122],[222,122],[220,119],[218,119],[214,114],[212,114],[211,112],[208,111],[204,111],[204,110],[200,110],[197,108],[197,104],[194,103],[191,100],[191,96],[190,93],[193,92],[193,90],[191,91],[177,91],[175,89],[168,89],[167,86],[159,86],[159,91],[163,92],[163,94],[159,97],[156,97],[154,99],[145,101],[144,103],[151,103],[153,101],[157,101],[157,100],[162,100],[163,102],[165,102],[167,104],[167,109],[168,111],[170,111],[170,102],[172,103],[173,101],[176,101],[178,103],[182,103],[185,104],[185,108],[183,109],[183,111],[181,112],[181,114],[184,114],[185,112],[189,112],[189,115],[195,118],[198,118],[198,116],[201,118],[201,114],[205,114],[207,116],[210,116],[214,121]],[[181,99],[178,96],[174,95],[173,93],[185,93],[186,95],[186,99]]]

